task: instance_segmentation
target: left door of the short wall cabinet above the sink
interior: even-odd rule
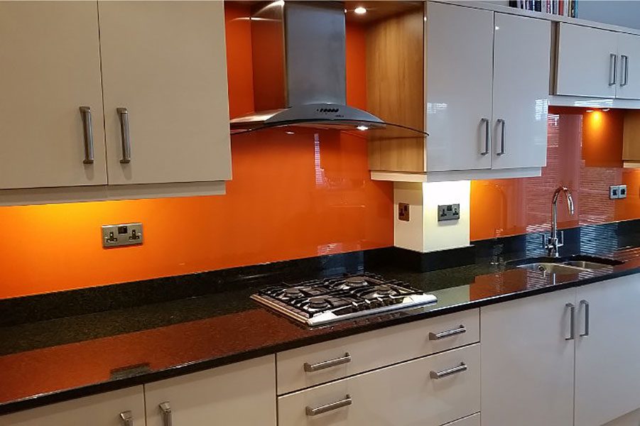
[[[617,33],[560,23],[556,94],[615,97],[617,53]]]

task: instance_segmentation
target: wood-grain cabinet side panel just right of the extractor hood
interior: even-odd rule
[[[424,11],[392,16],[367,28],[367,109],[384,121],[423,131]],[[425,171],[425,138],[387,130],[369,138],[369,168]]]

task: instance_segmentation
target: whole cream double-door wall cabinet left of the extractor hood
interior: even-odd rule
[[[231,178],[222,1],[2,2],[0,75],[0,204]]]

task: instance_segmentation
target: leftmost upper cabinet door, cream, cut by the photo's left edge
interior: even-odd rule
[[[99,52],[95,2],[0,2],[0,189],[107,183]]]

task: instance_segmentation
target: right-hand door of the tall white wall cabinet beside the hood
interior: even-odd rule
[[[543,167],[551,24],[504,13],[495,18],[492,168]]]

